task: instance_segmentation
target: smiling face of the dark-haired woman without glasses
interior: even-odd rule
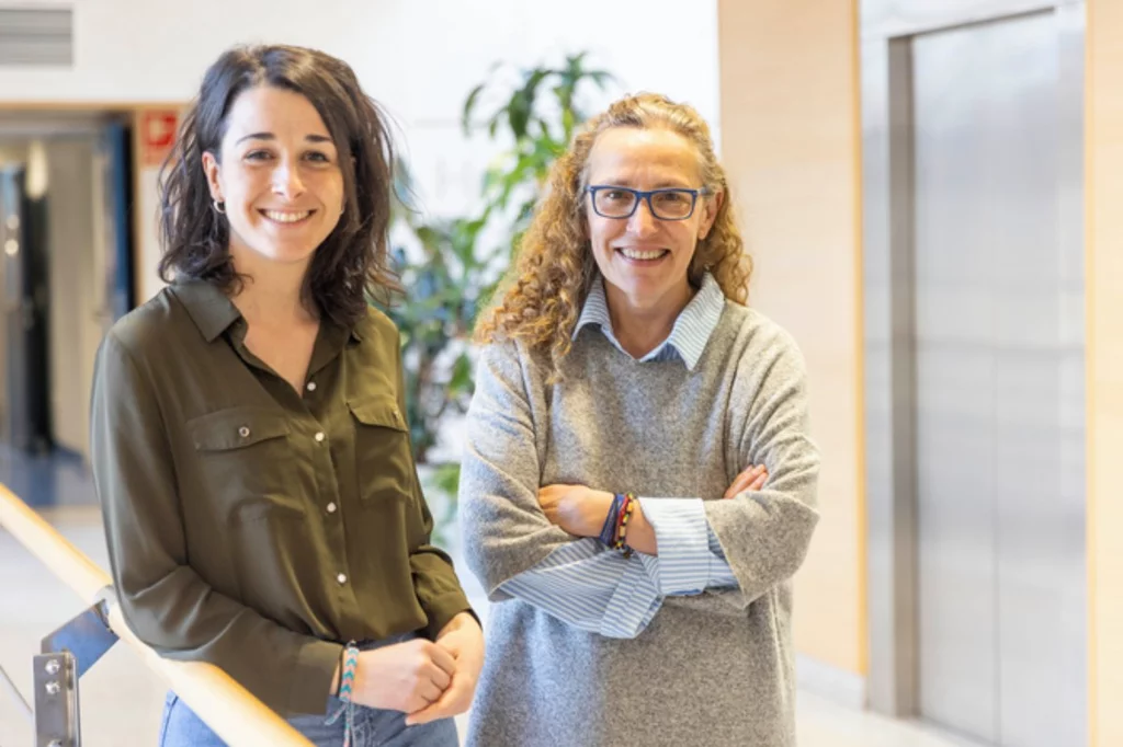
[[[203,168],[211,197],[225,203],[236,265],[243,257],[243,265],[307,266],[339,222],[338,151],[316,107],[293,91],[259,86],[238,95],[219,157],[204,153]]]

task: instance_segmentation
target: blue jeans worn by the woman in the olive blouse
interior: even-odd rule
[[[362,645],[377,648],[413,637],[394,636],[386,640]],[[289,723],[316,747],[341,747],[344,717],[334,723],[327,720],[343,706],[338,698],[328,698],[326,716],[296,716]],[[351,747],[457,747],[459,737],[453,719],[441,719],[420,726],[405,726],[405,714],[376,708],[355,708],[355,737]],[[159,747],[226,747],[217,734],[188,704],[170,692],[164,702],[164,719],[159,727]]]

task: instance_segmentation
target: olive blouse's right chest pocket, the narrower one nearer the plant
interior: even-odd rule
[[[355,468],[364,504],[408,498],[413,492],[413,454],[405,416],[392,397],[347,402],[355,421]]]

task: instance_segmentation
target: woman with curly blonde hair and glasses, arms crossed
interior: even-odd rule
[[[706,123],[664,96],[553,169],[477,329],[463,532],[500,603],[471,745],[795,744],[819,453],[733,215]]]

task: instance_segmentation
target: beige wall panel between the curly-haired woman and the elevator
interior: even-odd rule
[[[851,0],[720,0],[722,158],[757,261],[750,303],[810,368],[822,522],[796,648],[866,672],[857,15]]]

